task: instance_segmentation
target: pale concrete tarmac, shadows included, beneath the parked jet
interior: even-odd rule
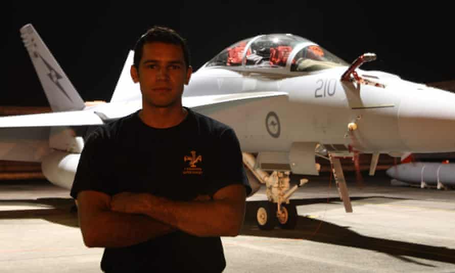
[[[455,191],[363,177],[359,187],[347,174],[353,213],[327,174],[307,177],[291,200],[295,230],[257,228],[262,188],[241,234],[222,237],[224,272],[455,272]],[[45,180],[0,181],[0,272],[101,272],[103,249],[83,245],[73,204]]]

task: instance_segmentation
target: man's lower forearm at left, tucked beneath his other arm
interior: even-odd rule
[[[90,218],[82,232],[88,247],[129,246],[175,231],[168,224],[140,214],[102,211]],[[85,223],[80,224],[82,227]]]

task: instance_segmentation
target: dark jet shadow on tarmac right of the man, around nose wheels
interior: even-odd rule
[[[355,200],[368,198],[371,197],[352,199]],[[381,196],[381,198],[384,197]],[[329,198],[328,201],[339,202],[339,199],[332,198],[331,200]],[[453,259],[453,257],[455,257],[455,249],[363,236],[352,231],[349,226],[339,226],[330,222],[322,221],[320,219],[313,219],[304,216],[298,217],[297,226],[294,230],[282,230],[279,227],[276,227],[275,230],[272,231],[262,231],[258,229],[256,224],[256,211],[261,202],[262,201],[251,201],[247,203],[245,221],[240,233],[241,235],[269,238],[302,239],[334,245],[350,246],[384,253],[403,261],[429,267],[433,267],[433,265],[420,263],[407,257],[455,264],[455,259]],[[291,200],[291,202],[296,206],[300,206],[302,204],[327,202],[327,198]]]

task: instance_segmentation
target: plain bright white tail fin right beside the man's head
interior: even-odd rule
[[[141,89],[139,84],[135,84],[131,79],[130,69],[133,64],[134,51],[128,53],[125,64],[123,65],[122,73],[120,74],[119,81],[117,82],[116,89],[112,94],[110,102],[116,101],[130,101],[141,98]]]

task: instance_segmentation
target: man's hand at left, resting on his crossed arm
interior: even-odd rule
[[[110,210],[124,213],[142,213],[147,210],[147,194],[121,192],[112,196]]]

